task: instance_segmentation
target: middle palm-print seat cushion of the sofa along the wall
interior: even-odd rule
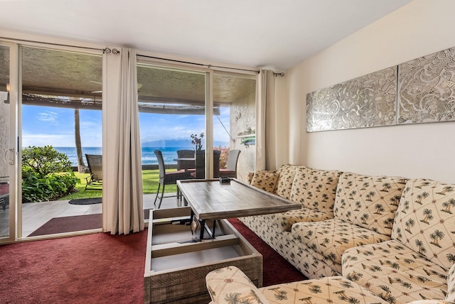
[[[341,264],[341,255],[346,249],[364,244],[387,241],[387,237],[341,219],[321,222],[299,222],[292,225],[293,239],[302,246],[322,254],[326,259]]]

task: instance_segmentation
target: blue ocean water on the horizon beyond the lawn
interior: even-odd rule
[[[76,147],[54,147],[60,153],[65,153],[70,159],[73,165],[77,165],[77,153]],[[158,165],[154,151],[161,150],[163,153],[164,163],[166,164],[176,164],[176,161],[173,161],[174,158],[177,158],[177,150],[191,149],[188,147],[143,147],[142,148],[142,165]],[[84,156],[84,162],[87,164],[85,159],[85,154],[102,154],[101,147],[82,147],[82,155]]]

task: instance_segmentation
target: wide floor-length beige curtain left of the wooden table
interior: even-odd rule
[[[144,230],[136,51],[103,57],[103,227],[111,234]]]

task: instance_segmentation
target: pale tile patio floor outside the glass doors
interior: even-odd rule
[[[165,195],[173,195],[167,193]],[[155,195],[144,195],[144,210],[154,209]],[[161,209],[178,207],[176,197],[164,197]],[[0,235],[5,231],[2,228],[7,223],[9,208],[5,211],[0,208]],[[33,202],[22,205],[22,236],[26,237],[45,222],[53,217],[70,217],[75,215],[93,215],[102,212],[102,204],[93,205],[71,205],[68,200],[58,200],[51,202]]]

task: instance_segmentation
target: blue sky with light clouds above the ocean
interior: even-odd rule
[[[229,130],[228,107],[220,108],[220,119]],[[204,131],[205,116],[173,114],[139,114],[141,141],[188,139]],[[229,136],[216,117],[213,119],[214,141],[229,143]],[[82,146],[102,146],[102,113],[80,110]],[[56,107],[22,107],[22,146],[75,146],[74,110]]]

